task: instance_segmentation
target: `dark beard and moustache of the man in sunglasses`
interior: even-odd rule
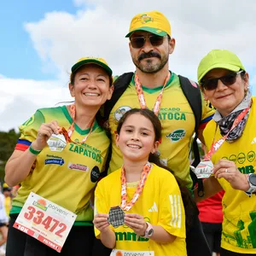
[[[153,64],[152,60],[148,59],[146,64],[142,64],[141,61],[145,58],[150,58],[150,57],[156,57],[160,59],[160,63]],[[156,52],[148,52],[148,53],[143,53],[138,56],[137,60],[135,60],[132,57],[132,61],[134,65],[143,73],[157,73],[159,72],[163,67],[166,66],[166,63],[168,62],[169,55],[164,55],[161,57],[158,53]]]

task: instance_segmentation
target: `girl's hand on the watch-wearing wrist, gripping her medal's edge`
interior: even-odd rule
[[[138,236],[145,236],[145,231],[148,228],[143,216],[136,213],[125,213],[125,224]]]

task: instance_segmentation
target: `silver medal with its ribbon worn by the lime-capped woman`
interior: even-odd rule
[[[250,110],[252,106],[252,101],[250,102],[250,105],[245,108],[234,120],[234,123],[232,127],[230,128],[230,131],[232,131],[236,126],[241,122],[241,120],[245,117],[247,112]],[[203,160],[199,163],[198,166],[195,167],[195,169],[192,169],[193,172],[195,172],[196,177],[198,178],[203,178],[203,177],[210,177],[212,175],[212,169],[213,169],[213,164],[212,164],[212,154],[214,154],[218,148],[222,146],[226,138],[229,136],[230,131],[222,138],[218,139],[217,142],[212,143],[212,146],[209,150],[209,152],[206,154]]]

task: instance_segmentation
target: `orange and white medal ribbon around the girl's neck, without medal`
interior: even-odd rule
[[[136,203],[136,201],[142,194],[143,188],[145,186],[145,182],[147,180],[148,173],[150,172],[151,167],[152,166],[149,162],[145,166],[143,166],[143,172],[141,174],[140,181],[137,184],[137,189],[136,189],[131,201],[128,203],[127,203],[128,195],[127,195],[127,191],[126,191],[125,168],[122,167],[122,170],[121,170],[121,208],[124,211],[131,210],[131,207],[133,207],[133,205]]]

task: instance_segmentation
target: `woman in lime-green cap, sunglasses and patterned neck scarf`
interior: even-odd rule
[[[249,76],[229,50],[213,49],[200,62],[198,81],[204,97],[216,108],[203,132],[212,161],[205,195],[224,189],[221,256],[256,254],[256,99]]]

